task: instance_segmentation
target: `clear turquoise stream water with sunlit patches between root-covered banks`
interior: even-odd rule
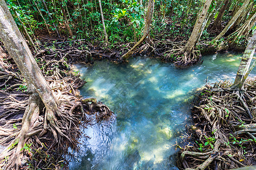
[[[84,97],[96,97],[117,115],[113,124],[85,129],[71,169],[177,169],[175,142],[190,124],[192,91],[218,79],[236,76],[240,54],[204,56],[204,62],[177,69],[158,59],[133,58],[116,65],[96,61],[76,65],[88,83]],[[256,75],[255,70],[252,73]]]

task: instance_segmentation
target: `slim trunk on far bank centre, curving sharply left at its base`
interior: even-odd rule
[[[147,17],[145,20],[145,26],[144,26],[144,32],[143,32],[143,36],[141,38],[141,40],[139,40],[134,46],[133,48],[131,48],[129,50],[129,52],[123,54],[122,58],[124,60],[127,60],[131,54],[133,54],[134,50],[142,44],[142,42],[144,42],[146,40],[146,38],[150,38],[150,24],[152,22],[152,16],[154,13],[154,5],[155,5],[155,1],[154,0],[148,0],[148,6],[147,6]]]

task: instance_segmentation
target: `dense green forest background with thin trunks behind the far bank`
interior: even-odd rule
[[[67,37],[67,41],[86,39],[97,45],[107,42],[108,48],[114,49],[119,46],[125,50],[129,49],[129,43],[133,45],[143,35],[148,5],[148,1],[142,0],[6,2],[18,27],[35,49],[43,45],[38,39],[51,37]],[[175,61],[179,55],[168,50],[170,46],[175,48],[175,45],[170,43],[187,41],[192,36],[192,29],[197,18],[200,18],[205,3],[210,4],[209,10],[203,15],[200,31],[196,32],[203,43],[197,43],[199,40],[195,40],[196,49],[203,51],[203,46],[207,44],[207,52],[210,49],[209,45],[217,50],[229,48],[243,51],[255,28],[256,1],[161,0],[154,3],[149,33],[154,43],[151,44],[150,50],[171,61]]]

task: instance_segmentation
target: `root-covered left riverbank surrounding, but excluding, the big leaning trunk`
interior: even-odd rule
[[[0,145],[3,150],[0,155],[0,167],[7,168],[9,160],[14,159],[17,143],[15,137],[22,131],[22,117],[31,101],[28,99],[26,82],[18,67],[7,54],[4,46],[2,48],[0,52],[0,87],[2,89],[0,90]],[[78,49],[72,49],[72,51],[76,50],[80,53]],[[60,113],[55,115],[55,122],[60,131],[49,128],[43,105],[38,108],[38,112],[31,118],[32,128],[26,132],[27,142],[20,150],[23,169],[39,167],[40,169],[60,167],[68,169],[68,160],[72,158],[72,152],[69,152],[69,149],[79,150],[78,139],[82,135],[82,129],[94,122],[114,118],[113,112],[106,105],[97,102],[94,98],[84,99],[80,95],[78,88],[85,82],[79,78],[78,72],[70,69],[71,63],[75,61],[67,61],[60,52],[57,55],[51,55],[51,52],[56,51],[58,50],[52,46],[52,49],[47,49],[46,52],[42,50],[36,54],[35,59],[56,100],[59,101]],[[79,56],[72,56],[72,59],[75,58]],[[95,120],[89,114],[94,114]]]

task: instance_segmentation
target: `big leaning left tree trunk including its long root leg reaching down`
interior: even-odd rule
[[[47,120],[56,131],[60,131],[58,126],[55,124],[55,113],[59,114],[55,97],[36,64],[26,41],[19,32],[19,29],[15,24],[4,0],[0,0],[0,38],[26,80],[28,89],[32,94],[32,99],[41,99],[43,101],[43,104],[46,107]],[[30,105],[24,113],[22,130],[15,139],[18,142],[18,146],[10,159],[11,161],[9,165],[7,165],[7,169],[13,167],[16,167],[16,169],[19,168],[20,158],[22,156],[21,150],[26,142],[25,136],[28,130],[28,125],[30,124],[29,121],[35,112],[35,109],[38,108],[35,102],[36,101],[31,101],[33,105]]]

